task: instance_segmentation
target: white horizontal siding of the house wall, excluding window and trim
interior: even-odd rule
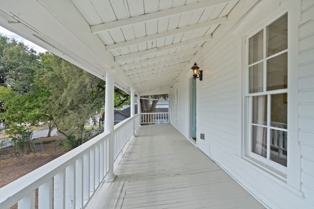
[[[287,0],[284,3],[289,4],[290,1]],[[273,8],[273,12],[282,11],[279,8],[284,5],[282,1],[267,2],[268,7]],[[240,1],[239,4],[241,3]],[[264,10],[256,12],[260,12],[259,15],[264,16],[267,21],[269,14],[265,14],[265,11],[269,11],[269,9],[264,8]],[[228,16],[228,21],[235,20],[233,15],[235,14]],[[273,15],[276,16],[276,14]],[[302,167],[300,189],[288,185],[284,175],[277,175],[276,171],[268,170],[261,163],[254,163],[245,156],[246,154],[242,150],[245,136],[242,136],[241,133],[246,125],[242,120],[245,114],[242,112],[244,104],[241,103],[243,82],[245,82],[242,80],[245,67],[241,67],[243,31],[241,34],[232,35],[231,30],[227,31],[223,27],[219,27],[214,33],[216,37],[219,37],[219,41],[213,36],[210,44],[203,46],[206,47],[204,53],[199,55],[198,60],[195,60],[198,66],[204,70],[203,81],[197,79],[197,146],[269,208],[314,208],[313,16],[314,1],[303,0],[302,22],[299,28],[299,66],[298,69],[295,69],[299,76],[298,128],[300,130]],[[258,23],[261,23],[258,15],[253,19],[247,23],[252,30],[256,29]],[[188,81],[186,76],[181,76],[178,80],[177,85],[181,97],[180,119],[173,125],[186,136],[189,123],[183,120],[188,119]],[[200,139],[200,133],[205,134],[205,140]],[[245,134],[243,133],[243,135]]]

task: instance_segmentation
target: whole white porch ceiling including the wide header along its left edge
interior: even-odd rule
[[[168,93],[238,0],[10,0],[0,25],[116,85]],[[191,72],[192,73],[192,72]]]

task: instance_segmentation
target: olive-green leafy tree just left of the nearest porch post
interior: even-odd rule
[[[43,103],[47,115],[59,132],[68,137],[62,131],[69,131],[79,145],[86,120],[102,106],[105,83],[56,55],[46,54],[41,58],[44,68],[38,76],[49,90]]]

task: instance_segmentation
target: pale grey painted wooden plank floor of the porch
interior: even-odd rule
[[[142,126],[87,208],[263,209],[170,124]],[[110,185],[111,184],[111,185]]]

